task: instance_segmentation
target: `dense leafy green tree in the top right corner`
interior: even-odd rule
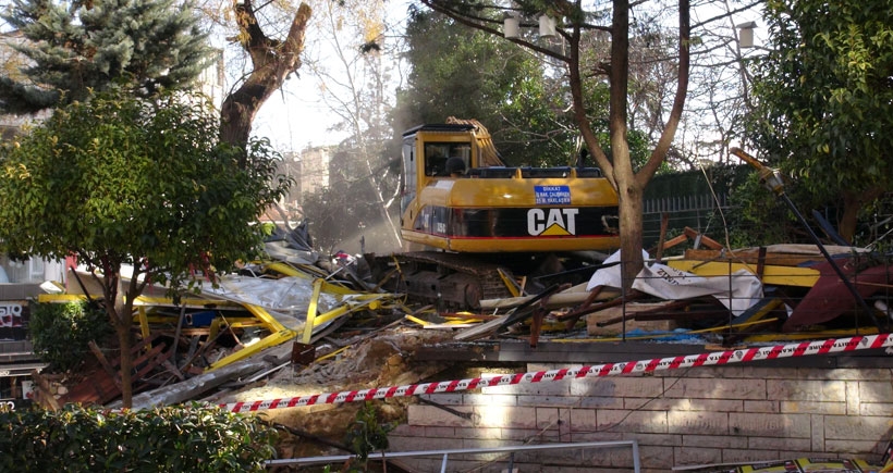
[[[772,49],[758,61],[757,149],[797,179],[811,208],[840,203],[852,239],[859,210],[893,179],[893,3],[766,3]]]

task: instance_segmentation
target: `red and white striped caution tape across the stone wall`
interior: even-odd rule
[[[749,348],[743,350],[711,351],[708,353],[688,354],[685,357],[655,358],[651,360],[627,361],[623,363],[604,363],[561,370],[505,374],[502,376],[492,377],[442,381],[439,383],[421,383],[406,386],[318,394],[311,396],[268,399],[252,402],[233,402],[219,404],[219,407],[232,412],[254,412],[267,409],[367,401],[372,399],[418,396],[425,394],[458,393],[481,387],[506,386],[523,383],[542,383],[574,378],[578,379],[584,377],[614,376],[620,374],[647,373],[661,370],[678,370],[690,366],[710,366],[730,363],[744,363],[748,361],[773,360],[776,358],[808,357],[812,354],[827,354],[866,350],[871,348],[888,348],[892,346],[893,335],[891,334],[866,335],[849,338],[830,338],[818,341],[776,345],[772,347]]]

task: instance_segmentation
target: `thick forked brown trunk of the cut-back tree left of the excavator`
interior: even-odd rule
[[[260,29],[252,0],[235,2],[242,46],[252,59],[253,70],[242,85],[227,96],[220,108],[220,139],[240,148],[248,142],[257,111],[285,78],[301,67],[304,35],[311,10],[306,3],[297,9],[284,41],[268,38]],[[241,164],[245,164],[244,162]]]

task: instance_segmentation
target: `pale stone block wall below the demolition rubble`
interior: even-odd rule
[[[528,371],[566,365],[529,364]],[[877,463],[893,436],[893,370],[721,366],[426,396],[392,451],[635,439],[643,472],[800,457]],[[439,404],[439,406],[437,406]],[[444,409],[445,408],[445,409]],[[404,460],[440,471],[441,458]],[[632,471],[632,449],[450,456],[448,471]]]

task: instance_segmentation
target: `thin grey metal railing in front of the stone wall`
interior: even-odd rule
[[[541,444],[541,445],[513,445],[505,447],[490,447],[490,448],[457,448],[445,450],[418,450],[418,451],[391,451],[391,452],[375,452],[369,453],[369,460],[384,460],[397,458],[412,457],[441,457],[440,471],[447,472],[447,464],[450,455],[486,455],[486,453],[516,453],[523,451],[536,450],[561,450],[561,449],[586,449],[586,448],[616,448],[616,447],[632,447],[633,449],[633,471],[639,473],[641,464],[639,461],[639,445],[637,440],[612,440],[612,441],[580,441],[572,444]],[[281,465],[311,465],[311,464],[327,464],[344,462],[354,458],[352,455],[341,455],[332,457],[308,457],[308,458],[289,458],[269,460],[266,465],[281,466]],[[511,471],[511,469],[509,470]]]

